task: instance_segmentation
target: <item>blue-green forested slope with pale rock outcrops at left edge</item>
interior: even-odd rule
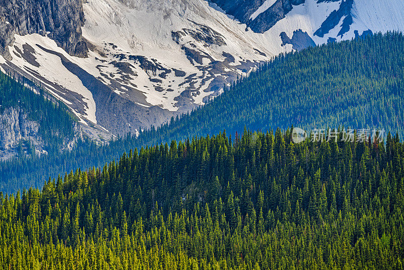
[[[38,157],[30,139],[21,138],[16,149],[17,156],[0,163],[0,190],[2,191],[14,191],[35,184],[33,179],[45,173],[41,168],[41,162],[38,162],[37,168],[33,166],[35,162],[46,160],[47,162],[43,164],[52,168],[55,157],[62,155],[66,143],[73,141],[76,136],[76,117],[63,103],[52,100],[38,85],[34,85],[29,80],[21,77],[14,78],[0,72],[0,116],[10,109],[16,113],[11,116],[11,119],[7,119],[9,115],[4,116],[6,119],[3,120],[6,122],[0,124],[2,127],[0,140],[3,143],[7,140],[18,141],[19,139],[14,137],[22,136],[17,131],[20,132],[20,128],[23,127],[21,125],[27,123],[27,121],[21,122],[22,117],[27,117],[28,121],[35,123],[34,128],[37,130],[34,131],[35,134],[28,134],[26,137],[34,136],[39,139],[41,148],[46,150],[48,156]],[[14,117],[17,119],[13,119]],[[17,123],[18,120],[20,123]],[[11,126],[12,121],[16,121],[14,125],[17,126]],[[0,151],[7,151],[7,149],[0,147]],[[31,166],[28,166],[29,164]],[[49,170],[46,171],[48,174],[49,172]],[[16,177],[21,173],[26,173],[26,177],[32,177],[32,179]]]

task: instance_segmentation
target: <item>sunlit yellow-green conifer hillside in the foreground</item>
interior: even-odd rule
[[[404,144],[225,133],[0,195],[0,269],[403,269]]]

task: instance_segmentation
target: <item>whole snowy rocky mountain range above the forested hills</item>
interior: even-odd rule
[[[398,0],[1,4],[0,68],[41,84],[88,133],[109,136],[203,105],[279,53],[404,30]]]

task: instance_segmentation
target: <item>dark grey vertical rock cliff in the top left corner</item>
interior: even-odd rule
[[[14,34],[47,34],[68,54],[87,56],[81,36],[82,0],[0,0],[0,54],[10,58],[7,47]]]

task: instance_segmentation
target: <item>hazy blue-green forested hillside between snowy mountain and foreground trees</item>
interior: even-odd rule
[[[239,79],[209,104],[169,124],[109,146],[79,142],[70,153],[1,164],[3,190],[41,186],[49,175],[102,166],[124,151],[244,126],[265,132],[294,125],[311,128],[385,128],[401,137],[404,125],[404,36],[375,34],[274,58]],[[12,175],[6,172],[13,171]]]

